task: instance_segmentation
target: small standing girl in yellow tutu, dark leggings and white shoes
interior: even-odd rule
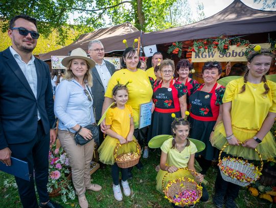
[[[127,82],[128,84],[129,82]],[[126,85],[127,85],[126,84]],[[114,149],[119,141],[122,145],[117,155],[133,152],[136,150],[136,144],[133,136],[134,125],[132,108],[126,105],[128,100],[128,89],[126,85],[118,84],[114,86],[112,95],[114,105],[106,112],[105,124],[107,127],[106,138],[99,147],[100,161],[111,166],[111,175],[113,179],[114,197],[118,201],[123,200],[122,191],[119,184],[119,170],[122,173],[122,187],[125,196],[130,196],[130,188],[127,182],[127,168],[119,168],[114,161]]]

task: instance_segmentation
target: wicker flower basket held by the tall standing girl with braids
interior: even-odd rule
[[[239,142],[240,145],[243,143]],[[241,187],[246,187],[250,183],[255,182],[259,179],[261,175],[261,171],[263,169],[263,160],[261,154],[258,152],[257,149],[255,151],[258,153],[258,156],[260,158],[260,168],[254,166],[251,163],[248,163],[248,161],[244,161],[242,159],[233,158],[233,157],[223,157],[223,159],[220,159],[221,153],[223,150],[228,146],[228,144],[224,145],[219,153],[219,163],[218,167],[220,169],[220,174],[223,180],[226,180],[228,182],[232,182],[234,184],[237,184]]]

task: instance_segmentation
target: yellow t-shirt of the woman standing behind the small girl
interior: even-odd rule
[[[152,98],[152,88],[145,71],[138,69],[136,72],[131,72],[126,68],[115,72],[110,78],[105,97],[112,98],[112,89],[118,84],[117,79],[120,78],[120,84],[126,84],[129,80],[131,83],[127,85],[128,101],[127,104],[133,109],[134,128],[138,128],[140,104],[150,102]]]

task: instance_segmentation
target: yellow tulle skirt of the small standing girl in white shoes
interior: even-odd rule
[[[136,141],[133,136],[133,140]],[[106,136],[103,143],[98,149],[99,159],[102,163],[107,165],[113,165],[115,163],[114,159],[114,149],[117,145],[118,139],[113,138],[111,136]],[[119,147],[117,155],[128,153],[128,152],[136,152],[136,144],[134,142],[130,142],[127,144],[123,144]]]

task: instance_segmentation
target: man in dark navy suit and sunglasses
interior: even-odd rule
[[[35,58],[39,34],[36,19],[18,15],[10,20],[12,45],[0,52],[0,161],[10,157],[28,162],[30,181],[15,177],[23,207],[61,207],[49,200],[49,145],[56,140],[54,101],[48,64]],[[20,171],[20,170],[18,170]]]

